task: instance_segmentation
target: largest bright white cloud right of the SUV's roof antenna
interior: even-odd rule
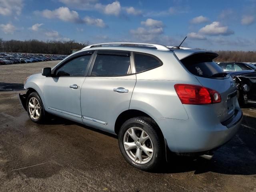
[[[200,34],[205,35],[231,35],[234,32],[228,29],[228,26],[222,26],[220,22],[214,21],[199,30]]]

